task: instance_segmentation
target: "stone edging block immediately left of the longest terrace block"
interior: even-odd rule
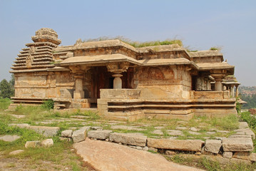
[[[128,145],[145,147],[147,137],[137,133],[111,133],[109,139],[114,142],[122,142]]]

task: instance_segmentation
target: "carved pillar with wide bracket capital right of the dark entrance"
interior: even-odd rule
[[[112,76],[114,77],[113,81],[113,89],[121,89],[122,88],[122,79],[123,76],[121,73],[126,72],[129,67],[128,62],[123,63],[109,63],[107,65],[108,71],[114,73]]]

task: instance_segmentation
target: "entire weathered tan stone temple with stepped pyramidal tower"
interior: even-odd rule
[[[9,108],[53,99],[56,109],[97,108],[116,120],[236,113],[239,83],[227,79],[235,67],[219,51],[188,52],[178,44],[134,48],[120,40],[58,46],[51,28],[36,31],[32,41],[11,67]]]

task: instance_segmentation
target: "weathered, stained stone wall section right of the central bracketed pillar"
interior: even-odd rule
[[[131,84],[143,99],[188,99],[191,76],[183,66],[138,67]]]

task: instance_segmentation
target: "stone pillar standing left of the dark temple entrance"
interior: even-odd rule
[[[75,90],[73,92],[73,98],[81,99],[84,98],[83,91],[83,73],[75,73]]]

